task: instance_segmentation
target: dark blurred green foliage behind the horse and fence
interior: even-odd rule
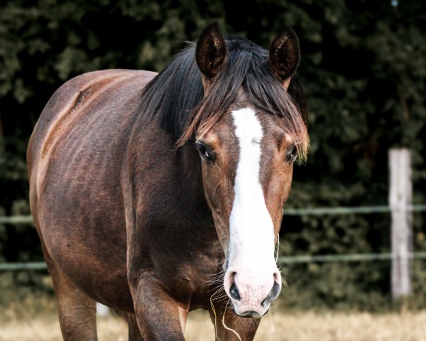
[[[388,205],[388,150],[395,147],[409,149],[413,204],[425,205],[425,7],[422,0],[0,0],[0,217],[30,213],[28,139],[60,85],[92,70],[159,71],[212,21],[224,35],[264,48],[283,23],[300,38],[297,76],[311,148],[295,166],[287,207]],[[413,251],[426,251],[426,212],[412,215]],[[280,232],[281,256],[390,251],[389,212],[285,215]],[[27,261],[43,261],[33,225],[0,221],[0,263]],[[426,260],[410,267],[403,307],[421,310]],[[391,297],[389,260],[288,262],[281,270],[285,311],[401,307]],[[0,293],[6,320],[54,310],[44,269],[0,270]]]

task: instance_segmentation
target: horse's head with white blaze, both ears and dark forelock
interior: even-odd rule
[[[299,63],[297,36],[285,26],[268,54],[249,40],[224,40],[214,23],[198,40],[196,60],[204,99],[192,124],[226,255],[224,289],[238,315],[261,317],[280,293],[275,243],[293,163],[308,143],[287,93]]]

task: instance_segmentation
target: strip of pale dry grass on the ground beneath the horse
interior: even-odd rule
[[[99,318],[100,341],[127,340],[126,325],[119,318]],[[214,340],[207,313],[190,314],[187,340]],[[417,313],[273,313],[263,318],[256,341],[420,341],[426,339],[426,311]],[[0,322],[1,341],[61,340],[55,316],[25,322]],[[224,341],[224,340],[222,340]]]

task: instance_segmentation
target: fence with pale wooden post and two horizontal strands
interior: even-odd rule
[[[411,293],[410,260],[426,259],[426,252],[413,252],[411,246],[411,212],[426,212],[426,205],[411,205],[410,153],[406,149],[389,151],[391,173],[389,205],[364,207],[285,208],[285,215],[349,215],[391,213],[392,251],[381,254],[332,254],[280,256],[278,263],[328,261],[392,261],[392,296]],[[31,216],[0,217],[0,224],[33,224]],[[3,263],[0,271],[47,269],[44,262]]]

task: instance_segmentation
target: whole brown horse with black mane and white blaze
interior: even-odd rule
[[[96,302],[130,340],[185,340],[197,308],[217,339],[253,340],[308,144],[299,55],[288,26],[268,53],[212,23],[158,75],[89,72],[53,94],[28,172],[65,340],[97,340]]]

